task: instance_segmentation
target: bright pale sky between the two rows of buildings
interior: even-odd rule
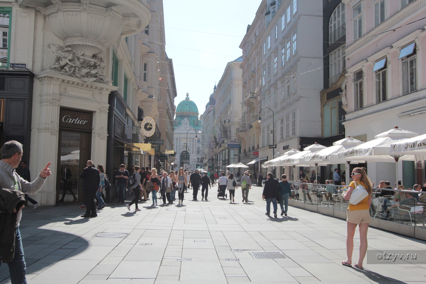
[[[166,53],[173,59],[176,106],[189,93],[200,115],[204,112],[226,63],[242,56],[239,45],[261,2],[163,0]]]

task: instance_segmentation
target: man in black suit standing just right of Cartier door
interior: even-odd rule
[[[101,177],[98,169],[93,167],[92,161],[87,161],[86,166],[87,167],[83,169],[80,175],[80,178],[83,178],[84,203],[86,204],[86,214],[81,215],[81,217],[97,217],[98,214],[96,214],[94,200],[99,188],[99,183],[101,182]]]

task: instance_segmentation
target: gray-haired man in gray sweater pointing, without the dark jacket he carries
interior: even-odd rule
[[[25,194],[36,194],[43,186],[45,179],[51,175],[49,164],[41,170],[40,175],[33,182],[25,181],[16,172],[22,158],[22,144],[17,141],[9,141],[3,144],[0,161],[0,183],[2,188],[16,189]],[[22,206],[16,218],[15,252],[11,263],[8,263],[10,281],[12,284],[26,284],[25,258],[22,247],[22,239],[19,232],[19,222],[22,217]]]

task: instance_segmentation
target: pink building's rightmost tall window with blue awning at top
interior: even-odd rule
[[[409,55],[401,57],[408,52]],[[417,90],[417,65],[416,65],[416,49],[415,44],[412,43],[406,48],[401,49],[400,58],[402,58],[402,86],[403,94],[411,93]]]

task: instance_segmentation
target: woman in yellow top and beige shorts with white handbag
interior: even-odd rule
[[[370,205],[371,205],[371,181],[367,173],[362,168],[355,168],[352,173],[352,182],[349,189],[343,194],[345,200],[349,200],[347,209],[348,218],[348,236],[346,238],[346,253],[348,259],[342,261],[345,266],[352,266],[352,251],[354,250],[354,235],[357,225],[360,226],[360,259],[354,267],[364,269],[363,260],[367,252],[367,230],[370,224]]]

